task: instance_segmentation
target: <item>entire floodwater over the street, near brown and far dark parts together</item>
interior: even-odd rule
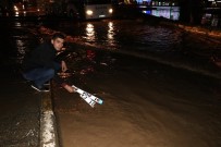
[[[13,29],[1,37],[16,47],[1,53],[3,77],[17,72],[38,42],[62,32],[69,66],[62,77],[105,101],[90,108],[52,83],[61,146],[221,146],[221,84],[208,76],[221,72],[210,62],[220,53],[219,39],[136,21],[27,24],[22,35]]]

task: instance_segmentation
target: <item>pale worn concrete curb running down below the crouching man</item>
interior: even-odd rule
[[[59,147],[56,115],[52,110],[51,91],[41,94],[40,147]]]

